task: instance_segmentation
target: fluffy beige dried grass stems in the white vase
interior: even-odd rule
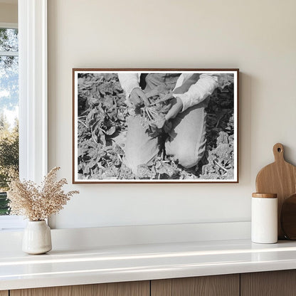
[[[56,181],[59,167],[54,167],[45,176],[41,186],[33,181],[14,179],[9,184],[7,199],[11,215],[26,216],[30,221],[42,221],[53,213],[58,213],[73,194],[79,191],[65,193],[62,189],[67,184],[66,179]]]

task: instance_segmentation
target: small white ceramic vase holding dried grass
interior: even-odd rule
[[[22,250],[34,255],[51,250],[51,228],[46,221],[28,221],[28,226],[23,231]]]

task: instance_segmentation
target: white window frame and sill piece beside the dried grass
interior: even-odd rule
[[[19,174],[40,183],[48,171],[47,0],[18,0],[18,56]],[[1,228],[23,228],[23,218],[0,218]]]

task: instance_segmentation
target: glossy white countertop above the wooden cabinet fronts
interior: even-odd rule
[[[100,246],[46,255],[0,251],[0,290],[155,280],[296,268],[296,241],[250,240]]]

